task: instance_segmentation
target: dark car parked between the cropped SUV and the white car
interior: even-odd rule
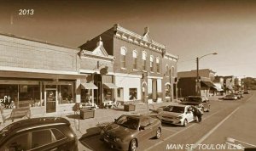
[[[161,122],[148,115],[121,115],[101,131],[101,140],[111,148],[135,151],[143,140],[160,138]]]

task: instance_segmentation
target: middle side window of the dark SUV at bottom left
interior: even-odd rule
[[[51,131],[41,130],[32,132],[32,148],[38,148],[52,142],[55,142],[55,139]]]

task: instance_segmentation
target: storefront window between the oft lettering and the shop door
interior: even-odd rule
[[[39,85],[19,85],[19,107],[26,106],[26,103],[31,107],[42,106]]]

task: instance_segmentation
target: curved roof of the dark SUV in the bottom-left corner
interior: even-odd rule
[[[40,118],[32,118],[26,120],[19,120],[15,123],[10,124],[9,126],[4,127],[0,131],[0,140],[3,139],[6,135],[13,131],[22,131],[38,128],[41,126],[55,126],[55,125],[68,125],[70,126],[70,122],[61,117],[40,117]]]

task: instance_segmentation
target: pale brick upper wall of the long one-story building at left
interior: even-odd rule
[[[72,48],[0,35],[0,66],[76,71],[79,69],[78,52]]]

